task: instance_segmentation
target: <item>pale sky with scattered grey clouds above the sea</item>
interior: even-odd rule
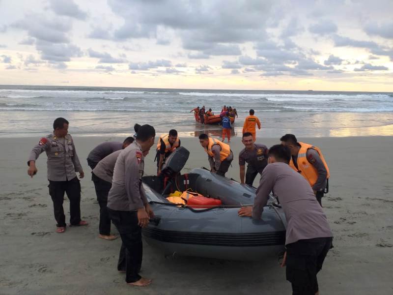
[[[393,0],[0,0],[0,84],[393,91]]]

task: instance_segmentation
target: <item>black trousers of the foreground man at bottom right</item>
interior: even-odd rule
[[[332,247],[332,237],[299,240],[286,245],[286,279],[292,295],[314,295],[319,291],[317,273]]]

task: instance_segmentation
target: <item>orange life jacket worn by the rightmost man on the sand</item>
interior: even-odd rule
[[[299,150],[298,160],[297,160],[298,168],[296,168],[295,165],[293,164],[292,157],[291,160],[289,161],[289,166],[291,166],[296,172],[299,172],[301,175],[303,175],[303,177],[305,177],[307,181],[309,181],[309,184],[313,186],[318,178],[318,172],[307,159],[307,150],[309,148],[313,148],[319,153],[323,165],[325,165],[326,171],[328,172],[327,178],[329,179],[330,177],[329,167],[328,164],[326,164],[325,158],[323,157],[321,150],[317,147],[305,143],[299,143],[299,145],[301,147]]]

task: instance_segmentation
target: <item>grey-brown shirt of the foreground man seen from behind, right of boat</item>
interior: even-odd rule
[[[263,170],[253,205],[254,219],[261,218],[272,190],[287,221],[285,245],[300,239],[333,236],[309,182],[286,163],[268,164]]]

